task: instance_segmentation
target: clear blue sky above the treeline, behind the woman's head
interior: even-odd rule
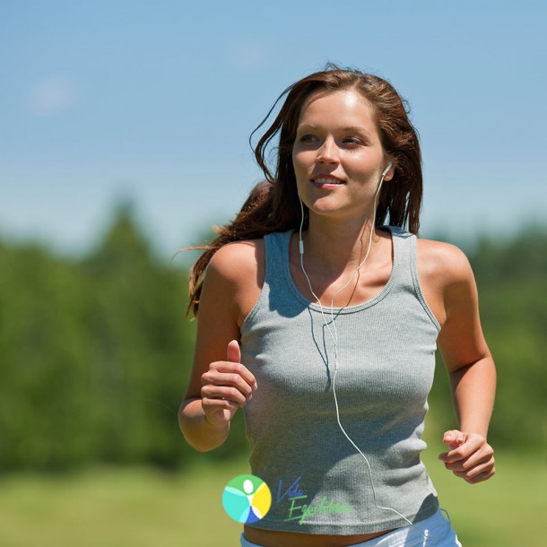
[[[422,235],[546,221],[547,3],[0,0],[0,236],[82,253],[132,199],[166,255],[261,178],[248,145],[326,61],[412,107]]]

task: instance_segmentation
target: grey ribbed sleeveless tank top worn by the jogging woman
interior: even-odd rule
[[[438,508],[420,453],[440,327],[421,292],[415,236],[385,229],[393,241],[385,287],[333,310],[340,421],[370,471],[336,421],[331,308],[323,315],[294,284],[292,231],[265,236],[265,282],[241,327],[241,362],[258,384],[245,407],[251,473],[272,491],[256,528],[368,534],[408,525],[385,508],[412,522]]]

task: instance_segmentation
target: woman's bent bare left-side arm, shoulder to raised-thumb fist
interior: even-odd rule
[[[256,389],[255,377],[240,362],[239,326],[260,293],[261,247],[222,247],[205,273],[192,374],[178,412],[187,442],[202,452],[226,440],[233,415]]]

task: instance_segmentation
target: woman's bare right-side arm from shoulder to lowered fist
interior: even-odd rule
[[[496,369],[482,334],[473,271],[457,247],[423,243],[419,270],[427,280],[424,284],[431,308],[442,325],[438,348],[450,378],[458,422],[458,430],[445,433],[443,442],[449,450],[439,459],[465,481],[482,482],[495,473],[487,437]]]

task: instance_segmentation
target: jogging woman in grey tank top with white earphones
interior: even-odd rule
[[[242,545],[459,545],[421,433],[438,346],[458,419],[439,457],[467,482],[493,475],[495,369],[473,273],[456,247],[414,236],[420,145],[388,82],[328,67],[284,94],[256,145],[267,182],[192,273],[181,430],[211,450],[244,408],[273,504]]]

